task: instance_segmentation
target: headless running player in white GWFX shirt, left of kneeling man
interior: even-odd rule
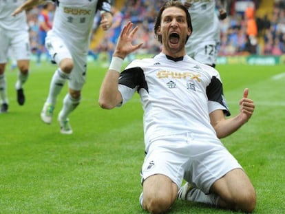
[[[41,3],[40,0],[28,0],[14,11],[18,12]],[[58,120],[61,133],[71,134],[72,128],[68,116],[79,105],[81,89],[85,84],[87,72],[87,53],[89,38],[96,11],[101,11],[101,27],[108,30],[112,25],[111,4],[109,0],[59,0],[52,30],[47,32],[45,46],[52,61],[59,66],[50,83],[50,92],[41,111],[43,122],[50,124],[56,106],[56,98],[68,81],[69,92],[63,99],[63,108]]]

